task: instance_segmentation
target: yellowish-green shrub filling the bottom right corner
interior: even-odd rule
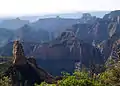
[[[104,84],[111,86],[120,86],[120,62],[116,62],[101,74],[101,80]]]

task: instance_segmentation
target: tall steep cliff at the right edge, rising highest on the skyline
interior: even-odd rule
[[[108,21],[108,39],[102,44],[105,60],[109,57],[118,58],[117,48],[119,48],[120,42],[120,11],[112,11],[103,17]]]

